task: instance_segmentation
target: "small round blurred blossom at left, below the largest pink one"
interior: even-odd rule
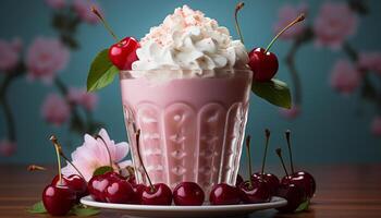
[[[60,126],[67,121],[70,107],[61,96],[49,94],[42,104],[41,116],[47,122]]]

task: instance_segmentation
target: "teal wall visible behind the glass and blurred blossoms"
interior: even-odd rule
[[[247,48],[265,47],[273,36],[272,25],[278,20],[278,9],[299,1],[255,0],[246,1],[241,13],[241,25]],[[323,1],[306,1],[309,15],[315,17]],[[162,22],[174,8],[186,3],[201,10],[207,16],[216,19],[226,26],[234,38],[233,11],[237,1],[198,0],[198,1],[99,1],[107,20],[120,36],[143,37],[151,26]],[[351,43],[361,50],[380,50],[379,38],[381,2],[369,1],[371,13],[360,20],[360,26]],[[20,36],[27,47],[34,37],[54,36],[50,26],[51,9],[44,1],[3,0],[0,3],[0,38],[11,39]],[[307,22],[311,22],[307,20]],[[70,65],[60,74],[61,78],[73,86],[85,86],[87,70],[95,55],[113,44],[102,25],[82,24],[78,28],[81,49],[71,53]],[[273,52],[282,59],[290,43],[279,41]],[[285,146],[283,131],[293,131],[295,160],[307,164],[328,162],[379,162],[381,160],[381,138],[371,135],[369,123],[376,111],[367,102],[359,100],[356,94],[343,97],[328,84],[330,70],[342,51],[317,49],[314,44],[303,47],[296,57],[297,68],[303,83],[303,113],[288,121],[280,117],[278,108],[251,95],[247,133],[254,140],[254,160],[259,162],[263,147],[263,130],[272,131],[268,160],[278,164],[272,153],[275,147]],[[1,75],[0,75],[1,76]],[[281,63],[278,77],[290,83],[290,74]],[[11,87],[10,99],[16,114],[19,149],[12,157],[0,157],[0,162],[42,164],[54,160],[53,149],[48,136],[57,134],[63,140],[67,152],[79,146],[82,136],[70,134],[67,126],[53,128],[40,118],[40,105],[51,87],[40,82],[19,80]],[[95,117],[107,123],[107,130],[115,141],[124,141],[124,123],[121,107],[119,83],[100,90],[99,104]],[[0,135],[4,134],[3,117],[0,111]],[[244,156],[245,157],[245,156]]]

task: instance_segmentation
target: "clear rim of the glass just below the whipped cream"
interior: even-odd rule
[[[213,76],[202,76],[199,74],[199,76],[194,77],[174,77],[171,80],[187,80],[187,78],[225,78],[225,77],[235,77],[239,75],[253,75],[253,71],[250,69],[214,69],[214,70],[187,70],[187,69],[177,69],[177,70],[171,70],[171,69],[153,69],[153,70],[123,70],[120,71],[120,78],[121,80],[136,80],[139,77],[132,76],[131,72],[150,72],[150,73],[160,73],[160,72],[185,72],[185,73],[195,73],[193,75],[197,75],[197,72],[208,73],[208,72],[220,72],[218,75]]]

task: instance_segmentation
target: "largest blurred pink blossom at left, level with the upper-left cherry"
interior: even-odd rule
[[[57,38],[37,37],[26,53],[26,68],[30,80],[51,83],[58,71],[69,61],[69,50]]]

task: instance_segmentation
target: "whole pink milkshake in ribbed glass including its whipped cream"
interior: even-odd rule
[[[197,182],[206,193],[235,184],[253,73],[241,41],[186,5],[151,28],[132,71],[121,72],[130,136],[140,129],[140,154],[152,182]],[[130,137],[138,182],[147,184]]]

